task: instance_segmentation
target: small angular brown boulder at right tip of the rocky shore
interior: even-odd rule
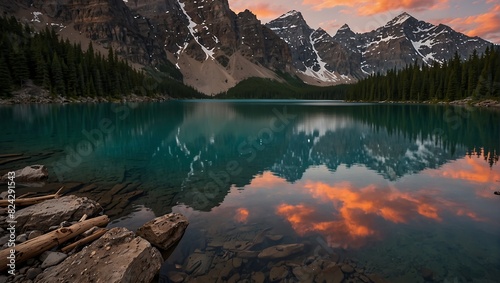
[[[188,225],[184,215],[169,213],[144,224],[137,229],[137,235],[160,249],[168,250],[182,238]]]

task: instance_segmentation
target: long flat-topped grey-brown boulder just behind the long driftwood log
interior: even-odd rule
[[[16,212],[16,221],[20,233],[31,230],[45,233],[51,226],[57,226],[63,221],[78,221],[84,214],[90,218],[101,211],[97,202],[71,195],[20,209]]]

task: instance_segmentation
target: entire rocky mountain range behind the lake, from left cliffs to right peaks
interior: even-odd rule
[[[138,67],[177,68],[185,84],[206,94],[249,77],[282,80],[277,71],[309,84],[352,83],[455,52],[467,57],[490,44],[406,13],[362,34],[347,25],[334,36],[313,30],[297,11],[263,25],[248,10],[231,11],[227,0],[13,0],[2,1],[0,12],[39,29],[52,26],[83,47],[93,41],[104,54],[113,47]]]

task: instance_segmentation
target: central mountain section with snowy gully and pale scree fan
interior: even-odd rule
[[[204,93],[225,91],[248,77],[279,79],[274,71],[291,67],[288,45],[250,11],[235,14],[227,0],[126,4],[159,31],[184,82]]]

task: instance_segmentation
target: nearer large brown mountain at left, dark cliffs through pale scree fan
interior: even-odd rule
[[[53,26],[84,47],[92,40],[103,54],[113,47],[142,66],[177,68],[185,84],[206,94],[293,73],[288,45],[250,11],[235,14],[227,0],[14,0],[2,1],[0,12],[38,29]]]

